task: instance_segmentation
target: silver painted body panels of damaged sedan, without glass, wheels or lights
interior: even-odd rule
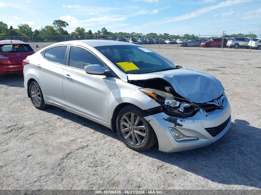
[[[91,50],[119,78],[89,75],[81,69],[49,62],[40,54],[45,49],[62,44]],[[24,87],[27,90],[29,87],[28,81],[35,79],[42,89],[46,104],[65,109],[108,128],[112,128],[112,116],[116,107],[120,104],[134,104],[143,110],[160,106],[155,100],[138,90],[141,87],[128,83],[128,80],[165,79],[181,96],[198,103],[213,100],[224,92],[221,83],[213,76],[191,68],[142,75],[127,75],[94,48],[95,46],[117,44],[134,45],[120,41],[83,40],[55,43],[45,47],[27,57],[30,63],[24,66]],[[69,74],[72,79],[62,76],[65,74]],[[78,95],[78,93],[80,94]],[[86,104],[87,100],[88,104]],[[156,132],[159,150],[164,152],[183,151],[211,144],[225,134],[230,123],[216,138],[208,134],[204,129],[216,127],[229,118],[231,109],[226,97],[222,106],[222,109],[216,109],[208,113],[200,109],[196,115],[184,119],[168,116],[164,112],[146,116],[145,119]],[[178,142],[170,134],[168,127],[175,127],[186,136],[197,136],[199,140]]]

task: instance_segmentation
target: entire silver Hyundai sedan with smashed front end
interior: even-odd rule
[[[163,152],[206,146],[231,123],[219,80],[132,43],[55,43],[28,56],[23,66],[33,106],[53,105],[93,120],[136,151],[157,142]]]

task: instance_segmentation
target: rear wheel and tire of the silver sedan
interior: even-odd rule
[[[42,90],[36,81],[32,81],[29,87],[30,99],[37,109],[47,108],[49,105],[45,104]]]

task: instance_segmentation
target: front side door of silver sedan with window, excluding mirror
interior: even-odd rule
[[[111,77],[90,75],[84,70],[91,64],[104,67],[104,62],[81,46],[71,45],[67,56],[63,73],[65,106],[107,123]]]

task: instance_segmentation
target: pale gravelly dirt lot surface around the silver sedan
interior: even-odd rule
[[[186,152],[134,152],[110,129],[60,108],[37,110],[23,76],[0,78],[0,189],[260,189],[261,54],[157,49],[223,83],[230,130]]]

